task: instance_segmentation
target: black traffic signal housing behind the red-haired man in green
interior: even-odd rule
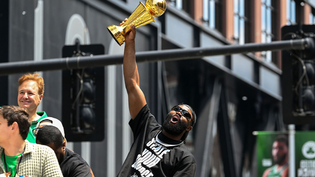
[[[62,48],[62,57],[99,54],[102,44]],[[62,71],[62,124],[68,141],[104,139],[104,67]]]

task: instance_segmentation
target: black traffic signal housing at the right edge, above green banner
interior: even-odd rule
[[[314,29],[315,25],[282,28],[282,40],[312,40],[312,46],[307,46],[305,50],[282,51],[282,112],[285,124],[315,124]]]

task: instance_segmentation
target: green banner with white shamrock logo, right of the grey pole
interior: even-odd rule
[[[315,131],[295,133],[295,176],[315,176]]]

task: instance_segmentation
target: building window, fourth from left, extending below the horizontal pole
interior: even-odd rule
[[[275,16],[275,9],[271,0],[261,1],[261,43],[270,43],[274,38],[272,34],[272,17]],[[262,57],[268,61],[272,61],[272,52],[261,52]]]

